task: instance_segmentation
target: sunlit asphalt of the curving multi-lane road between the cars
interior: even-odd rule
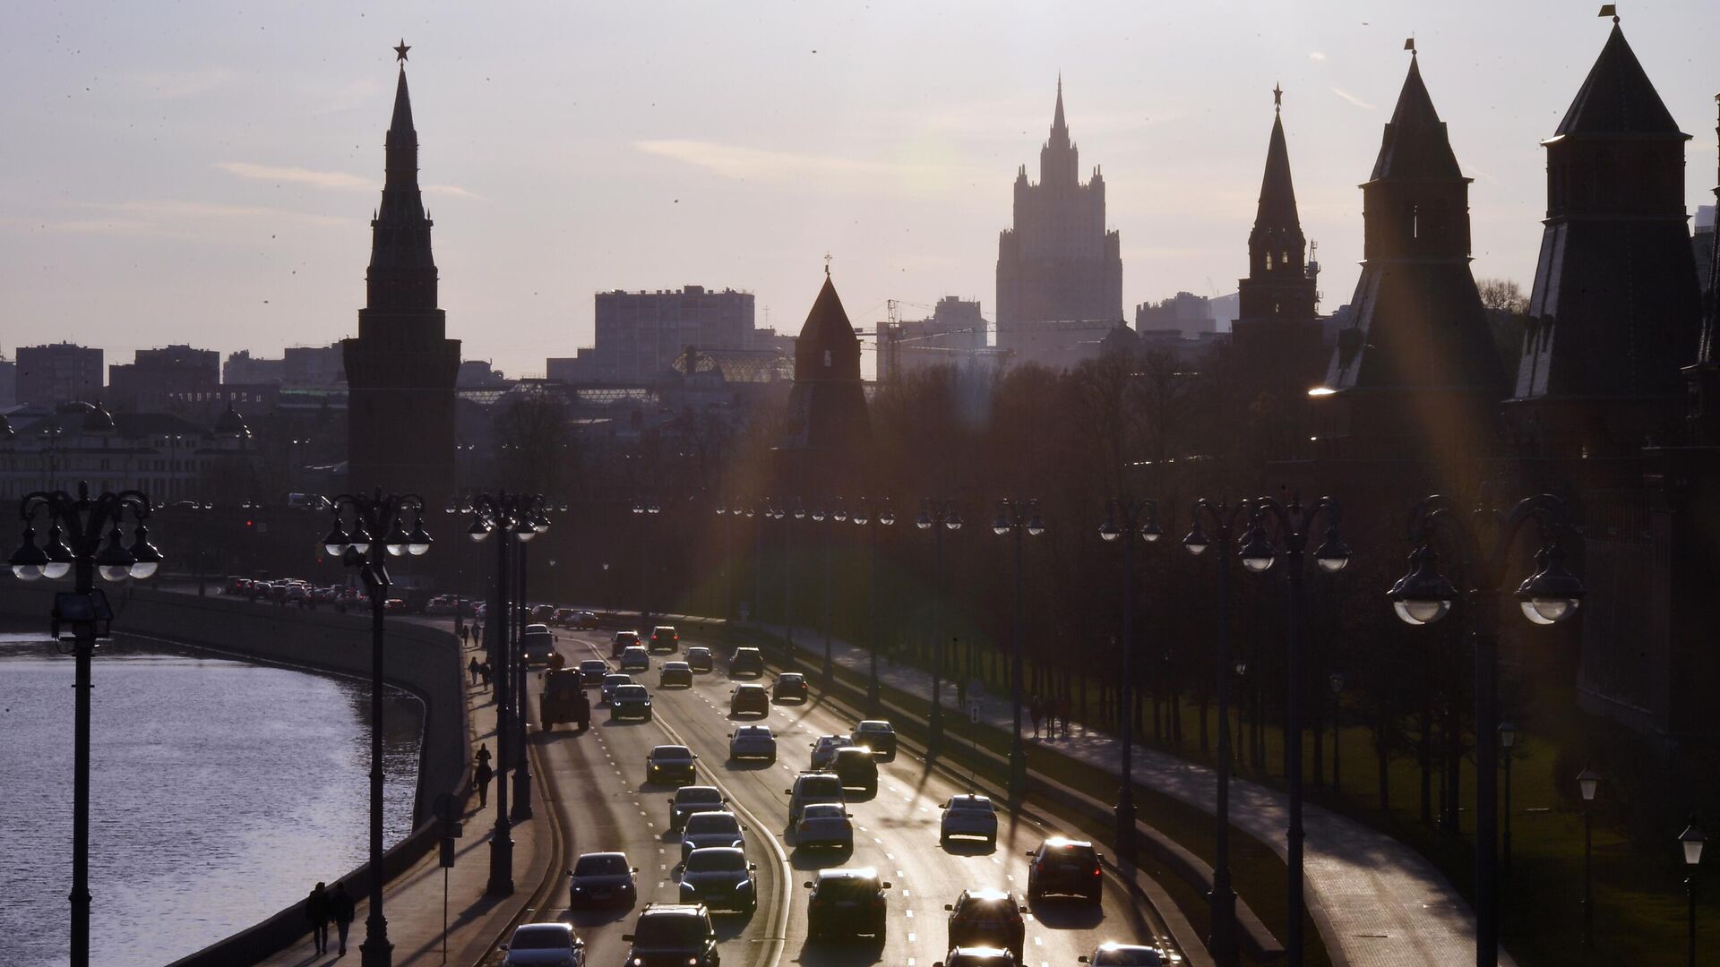
[[[690,637],[681,640],[683,649],[690,644],[700,642]],[[557,649],[569,666],[590,657],[609,659],[609,638],[595,631],[561,631]],[[533,921],[573,922],[587,943],[588,964],[621,965],[628,953],[621,934],[631,933],[638,910],[647,902],[676,902],[679,896],[674,879],[679,838],[669,831],[673,788],[645,783],[645,755],[662,743],[688,745],[698,754],[700,783],[726,791],[731,809],[746,826],[748,859],[759,865],[757,912],[712,915],[724,967],[779,967],[789,962],[931,967],[948,952],[944,903],[963,888],[1013,890],[1020,902],[1027,902],[1025,853],[1058,829],[1001,814],[996,848],[961,840],[941,847],[939,804],[968,790],[906,750],[881,764],[875,797],[850,798],[855,822],[851,855],[796,850],[786,833],[784,790],[808,767],[814,738],[846,733],[853,719],[820,702],[815,688],[812,702],[772,705],[762,719],[777,735],[776,762],[731,762],[728,736],[738,721],[753,721],[753,716],[729,718],[733,681],[721,657],[716,671],[695,676],[691,688],[657,688],[657,664],[678,657],[683,656],[652,656],[652,669],[635,674],[652,692],[654,721],[616,723],[607,707],[593,707],[592,730],[583,735],[562,726],[531,736],[540,762],[537,785],[554,797],[564,817],[568,862],[559,864],[557,874],[578,853],[600,850],[623,850],[640,869],[640,902],[633,908],[569,910],[562,878],[544,905],[530,912]],[[769,683],[771,674],[764,681]],[[531,693],[535,721],[535,681]],[[595,702],[595,688],[590,693]],[[550,804],[537,805],[542,816]],[[888,938],[882,945],[808,943],[808,891],[803,883],[820,867],[855,865],[875,867],[881,879],[891,883]],[[1101,941],[1170,945],[1158,914],[1109,874],[1101,908],[1053,898],[1032,903],[1030,910],[1023,967],[1075,967],[1077,958]]]

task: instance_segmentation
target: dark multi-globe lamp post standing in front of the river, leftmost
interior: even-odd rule
[[[19,501],[24,537],[12,552],[12,575],[19,580],[58,580],[72,575],[72,590],[53,595],[53,637],[64,642],[62,625],[71,625],[74,719],[72,719],[72,967],[89,965],[89,692],[96,640],[108,637],[114,609],[96,590],[95,576],[120,582],[148,578],[160,568],[162,552],[150,544],[144,518],[153,509],[141,490],[89,496],[89,484],[77,484],[77,496],[65,490],[34,490]],[[122,532],[126,514],[134,521],[131,545]],[[36,545],[36,514],[48,520],[48,540]]]

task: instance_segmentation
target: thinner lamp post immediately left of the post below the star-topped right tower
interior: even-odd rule
[[[1218,692],[1218,791],[1214,795],[1213,828],[1213,891],[1207,895],[1211,905],[1211,936],[1207,950],[1218,964],[1237,960],[1237,891],[1230,886],[1230,542],[1237,521],[1249,513],[1249,502],[1232,506],[1228,501],[1211,502],[1199,497],[1194,502],[1189,535],[1183,547],[1199,557],[1218,544],[1218,649],[1214,649],[1216,692]],[[1201,527],[1201,516],[1213,525],[1213,537]]]

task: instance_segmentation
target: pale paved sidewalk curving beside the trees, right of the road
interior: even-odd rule
[[[784,628],[755,626],[777,638]],[[795,628],[796,649],[822,661],[824,635]],[[870,652],[841,640],[831,642],[841,668],[865,674]],[[879,661],[879,681],[908,695],[931,695],[931,674]],[[956,709],[955,683],[944,683],[944,711]],[[1008,733],[1015,714],[1006,697],[980,699],[980,721]],[[1087,731],[1054,740],[1029,740],[1089,766],[1116,773],[1121,759],[1115,736]],[[1204,812],[1214,812],[1216,778],[1211,767],[1135,745],[1133,779]],[[1230,822],[1280,857],[1287,855],[1288,798],[1278,790],[1232,778]],[[1302,824],[1307,907],[1321,939],[1338,967],[1398,967],[1405,964],[1472,964],[1474,914],[1431,862],[1404,843],[1314,804],[1304,804]],[[1500,964],[1512,965],[1500,952]]]

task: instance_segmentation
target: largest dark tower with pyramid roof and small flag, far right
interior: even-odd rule
[[[1613,22],[1546,146],[1546,227],[1507,406],[1529,453],[1625,456],[1682,435],[1701,291],[1684,143]]]

